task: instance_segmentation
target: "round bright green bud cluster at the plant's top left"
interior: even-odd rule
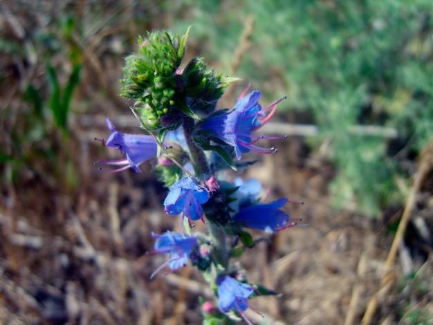
[[[149,32],[147,38],[138,38],[138,53],[125,59],[121,95],[135,100],[134,106],[149,129],[164,127],[161,118],[168,114],[165,120],[176,120],[180,113],[176,101],[185,98],[185,93],[177,71],[185,55],[188,32],[183,37],[166,31]]]

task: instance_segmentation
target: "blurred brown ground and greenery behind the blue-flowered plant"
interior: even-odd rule
[[[279,291],[248,316],[360,324],[412,191],[371,322],[432,324],[433,174],[413,188],[433,136],[431,0],[0,0],[0,322],[201,324],[199,272],[149,280],[166,258],[147,256],[150,232],[178,227],[151,164],[93,165],[120,158],[94,140],[105,118],[140,131],[119,96],[137,35],[191,25],[185,62],[242,79],[221,107],[248,84],[265,106],[288,97],[263,130],[288,139],[244,176],[304,202],[286,207],[304,226],[244,254],[250,282]]]

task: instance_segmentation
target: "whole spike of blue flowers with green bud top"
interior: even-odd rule
[[[211,301],[203,302],[203,315],[209,322],[211,318],[224,322],[232,310],[251,324],[244,314],[250,307],[248,299],[255,292],[267,295],[273,291],[258,291],[246,279],[234,276],[242,270],[230,260],[253,246],[251,229],[274,233],[295,223],[284,211],[290,202],[287,198],[266,202],[260,198],[259,180],[229,181],[225,169],[250,165],[239,161],[250,151],[277,152],[258,142],[281,137],[255,131],[270,120],[285,97],[261,106],[260,91],[247,88],[232,109],[216,110],[225,87],[237,78],[216,75],[199,57],[181,69],[186,39],[187,35],[171,32],[149,32],[147,38],[139,39],[138,53],[126,58],[122,95],[134,100],[134,113],[148,133],[119,132],[107,119],[111,134],[107,141],[100,141],[118,149],[124,158],[97,163],[118,166],[108,169],[112,172],[129,168],[140,172],[140,165],[151,160],[168,189],[165,213],[181,216],[181,232],[151,233],[156,243],[149,253],[169,254],[151,277],[165,267],[173,272],[191,262],[207,274],[218,298],[218,309]],[[208,226],[208,234],[190,234],[198,220]]]

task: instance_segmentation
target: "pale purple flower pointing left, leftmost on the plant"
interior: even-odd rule
[[[111,133],[107,141],[101,140],[102,143],[107,147],[119,149],[126,156],[126,158],[118,160],[98,160],[97,163],[100,164],[122,166],[118,169],[110,170],[111,172],[122,171],[131,167],[140,173],[141,171],[138,166],[146,160],[156,157],[158,146],[151,136],[118,132],[108,118],[107,127],[113,133]]]

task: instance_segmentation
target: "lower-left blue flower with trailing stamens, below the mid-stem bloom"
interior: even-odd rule
[[[196,248],[199,243],[199,239],[195,236],[188,234],[179,234],[177,232],[166,232],[165,234],[158,235],[151,233],[154,238],[158,238],[155,243],[155,250],[149,252],[149,254],[165,254],[169,253],[168,261],[165,261],[163,265],[157,268],[150,276],[153,278],[162,268],[169,265],[170,272],[187,266],[188,257],[191,252]]]

